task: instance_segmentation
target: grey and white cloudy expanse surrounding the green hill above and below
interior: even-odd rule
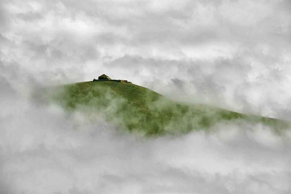
[[[290,193],[290,130],[143,139],[31,98],[106,74],[291,121],[290,51],[289,0],[2,0],[0,193]]]

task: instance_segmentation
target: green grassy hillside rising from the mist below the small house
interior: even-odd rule
[[[279,119],[246,115],[210,105],[173,102],[147,88],[121,82],[80,82],[44,89],[42,99],[61,105],[85,120],[103,119],[143,135],[184,134],[209,131],[218,123],[263,124],[280,133],[289,123]]]

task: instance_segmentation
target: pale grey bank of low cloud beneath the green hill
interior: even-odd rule
[[[193,132],[141,139],[105,122],[79,125],[64,113],[56,115],[17,97],[5,99],[1,106],[6,110],[1,112],[0,141],[5,193],[291,189],[289,141],[261,125],[221,123],[216,126],[219,136]]]

